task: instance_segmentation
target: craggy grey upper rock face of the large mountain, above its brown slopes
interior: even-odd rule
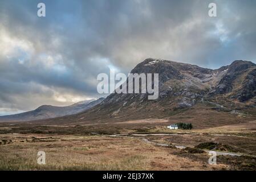
[[[256,91],[251,84],[254,84],[255,76],[250,69],[254,67],[255,64],[250,61],[237,60],[213,70],[176,61],[148,58],[137,64],[131,73],[159,73],[157,102],[167,102],[170,107],[184,108],[192,107],[204,99],[227,97],[226,93],[229,93],[229,99],[240,102],[253,98]],[[111,94],[105,101],[108,104],[120,105],[120,111],[122,107],[149,102],[144,95]]]

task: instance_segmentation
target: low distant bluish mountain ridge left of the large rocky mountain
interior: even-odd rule
[[[42,105],[35,110],[27,111],[25,113],[1,116],[0,122],[32,121],[37,119],[62,117],[64,115],[71,115],[86,111],[103,100],[104,98],[99,98],[98,100],[80,101],[73,105],[64,107]]]

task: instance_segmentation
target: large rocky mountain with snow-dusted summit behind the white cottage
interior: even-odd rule
[[[237,60],[219,69],[146,59],[131,73],[159,73],[159,98],[112,93],[99,105],[45,123],[107,123],[164,118],[199,126],[239,123],[256,115],[256,64]],[[255,118],[254,118],[255,119]]]

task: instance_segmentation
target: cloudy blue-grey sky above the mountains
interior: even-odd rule
[[[99,73],[127,74],[148,57],[212,69],[255,63],[255,8],[254,0],[0,0],[0,115],[99,98]]]

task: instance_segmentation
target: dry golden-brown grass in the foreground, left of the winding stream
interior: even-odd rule
[[[33,138],[34,137],[34,138]],[[44,138],[44,139],[39,139]],[[0,146],[2,170],[211,170],[205,161],[171,154],[178,149],[157,147],[140,139],[74,135],[10,135],[12,143]],[[24,141],[24,142],[21,142]],[[36,163],[39,150],[46,152],[46,165]]]

